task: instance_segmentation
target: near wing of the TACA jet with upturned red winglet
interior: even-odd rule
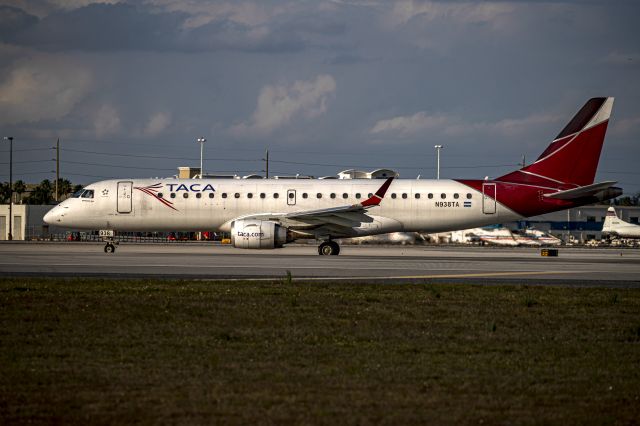
[[[367,210],[380,204],[393,179],[393,177],[388,178],[375,194],[358,204],[290,213],[250,215],[243,216],[242,219],[275,220],[290,229],[316,235],[350,236],[353,234],[352,228],[373,222]]]

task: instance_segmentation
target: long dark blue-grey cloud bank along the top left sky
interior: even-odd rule
[[[2,41],[47,51],[293,52],[345,31],[344,24],[321,17],[258,27],[216,19],[189,28],[185,22],[192,15],[185,12],[124,3],[59,10],[42,19],[12,7],[0,12]]]

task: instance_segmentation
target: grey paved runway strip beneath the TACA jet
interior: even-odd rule
[[[318,256],[314,245],[241,250],[205,244],[2,243],[3,276],[277,279],[381,282],[471,282],[640,287],[640,250],[343,246],[340,256]]]

